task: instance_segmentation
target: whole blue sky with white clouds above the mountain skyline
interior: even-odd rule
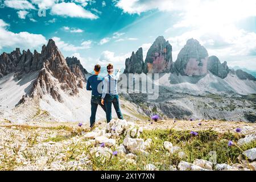
[[[52,38],[88,71],[96,63],[122,68],[163,35],[174,61],[195,38],[221,62],[256,70],[255,17],[254,0],[0,0],[0,52],[41,51]]]

